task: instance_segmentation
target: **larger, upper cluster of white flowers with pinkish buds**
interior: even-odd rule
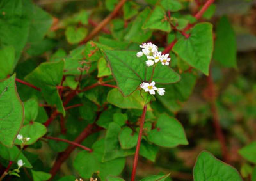
[[[136,55],[137,57],[147,56],[146,65],[152,66],[154,63],[158,63],[159,61],[162,63],[162,65],[169,65],[170,58],[168,58],[169,54],[162,54],[162,52],[158,52],[158,47],[155,44],[152,44],[151,42],[142,43],[140,45],[142,51],[138,52]]]

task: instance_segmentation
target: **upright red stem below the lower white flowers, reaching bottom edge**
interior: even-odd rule
[[[140,152],[140,143],[141,143],[141,138],[142,138],[142,133],[143,133],[143,127],[144,127],[146,112],[147,112],[147,105],[145,105],[143,107],[143,113],[142,113],[141,118],[140,118],[140,132],[139,132],[139,136],[138,136],[136,152],[135,152],[135,155],[134,155],[131,181],[134,181],[135,176],[136,176],[136,168],[137,168],[137,164],[138,164],[138,157],[139,157],[139,152]]]

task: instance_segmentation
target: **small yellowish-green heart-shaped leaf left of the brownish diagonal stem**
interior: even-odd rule
[[[86,37],[87,33],[88,29],[84,27],[76,28],[74,26],[68,26],[65,31],[66,38],[70,44],[81,42]]]

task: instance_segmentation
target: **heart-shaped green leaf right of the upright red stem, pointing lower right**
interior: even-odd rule
[[[156,145],[168,148],[177,145],[188,145],[181,123],[167,114],[159,116],[156,128],[148,132],[148,140]]]

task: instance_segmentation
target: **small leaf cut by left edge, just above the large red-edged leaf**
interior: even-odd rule
[[[0,79],[13,73],[15,66],[15,49],[12,46],[0,49]]]

